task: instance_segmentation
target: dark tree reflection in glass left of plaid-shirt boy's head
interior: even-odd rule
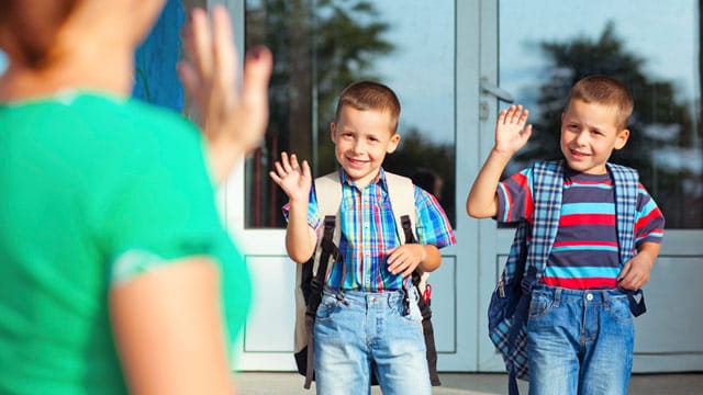
[[[275,59],[266,142],[247,163],[248,226],[282,226],[284,195],[267,176],[281,150],[313,160],[314,176],[335,168],[328,125],[337,94],[373,79],[373,57],[392,50],[382,37],[388,29],[372,1],[246,2],[247,47],[266,43]]]

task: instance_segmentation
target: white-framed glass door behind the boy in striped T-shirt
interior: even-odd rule
[[[700,16],[694,0],[666,5],[645,0],[636,7],[612,0],[482,1],[481,77],[528,108],[535,126],[506,176],[532,160],[560,156],[561,111],[578,79],[610,75],[635,95],[629,142],[611,160],[639,171],[667,218],[661,255],[645,287],[649,312],[636,319],[634,370],[640,372],[703,369],[703,338],[687,329],[703,320],[691,314],[700,311],[703,296],[695,280],[703,274]],[[495,115],[506,105],[493,97],[481,99],[483,158],[492,146]],[[482,227],[498,235],[495,251],[481,255],[482,272],[490,273],[482,283],[482,311],[513,233],[491,225]],[[479,360],[480,370],[502,370],[488,341]]]

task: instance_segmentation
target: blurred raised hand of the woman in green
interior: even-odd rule
[[[208,142],[213,177],[223,181],[239,159],[259,146],[266,132],[272,56],[266,47],[255,47],[239,72],[232,22],[222,5],[213,7],[212,19],[193,9],[183,48],[178,71]]]

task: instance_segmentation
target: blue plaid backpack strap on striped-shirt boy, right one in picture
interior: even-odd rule
[[[627,262],[635,250],[635,213],[639,174],[635,169],[607,163],[615,188],[615,217],[621,263]]]

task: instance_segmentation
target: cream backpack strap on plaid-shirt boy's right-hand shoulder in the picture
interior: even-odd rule
[[[417,242],[415,223],[417,214],[415,210],[415,185],[408,177],[393,174],[386,171],[388,184],[388,199],[395,218],[395,232],[401,244]]]

